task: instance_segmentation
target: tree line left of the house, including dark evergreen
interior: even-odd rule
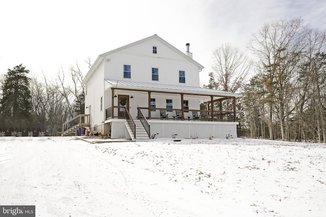
[[[59,135],[61,125],[78,114],[84,114],[83,74],[76,63],[69,72],[59,70],[50,80],[43,73],[41,81],[29,77],[22,64],[8,69],[0,79],[0,131],[44,131]]]

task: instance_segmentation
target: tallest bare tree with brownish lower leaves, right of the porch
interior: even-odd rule
[[[307,46],[307,27],[301,18],[266,23],[253,36],[249,46],[259,59],[262,82],[268,91],[266,103],[270,139],[274,138],[274,120],[279,122],[282,140],[289,139],[286,138],[285,121],[293,107],[288,96],[293,90],[292,81],[300,56]]]

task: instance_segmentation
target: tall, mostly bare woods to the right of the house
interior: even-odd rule
[[[253,35],[248,49],[253,60],[241,59],[228,44],[216,49],[206,86],[241,92],[240,135],[325,142],[325,29],[302,18],[272,21]]]

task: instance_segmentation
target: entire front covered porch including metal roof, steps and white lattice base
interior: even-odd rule
[[[105,80],[104,123],[112,138],[236,137],[236,97],[231,92]]]

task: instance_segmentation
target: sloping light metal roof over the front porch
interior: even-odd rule
[[[109,84],[107,88],[126,89],[126,90],[135,90],[135,91],[163,92],[169,94],[214,96],[220,98],[241,97],[240,94],[235,94],[233,92],[226,92],[226,91],[208,89],[203,87],[159,84],[159,83],[145,83],[145,82],[134,82],[134,81],[117,81],[117,80],[105,80],[105,81]]]

